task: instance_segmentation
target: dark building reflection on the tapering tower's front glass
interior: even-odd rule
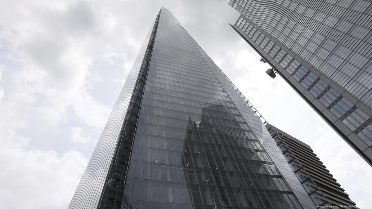
[[[228,103],[222,102],[202,103],[201,121],[189,120],[186,129],[182,160],[193,202],[300,208],[247,124],[234,118]]]

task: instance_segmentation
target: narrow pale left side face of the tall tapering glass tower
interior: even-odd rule
[[[84,171],[83,177],[80,180],[68,209],[97,208],[112,163],[112,158],[116,151],[118,139],[121,135],[129,101],[136,85],[145,52],[147,51],[147,45],[151,32],[153,31],[154,23],[152,24],[133,67],[128,74],[128,78],[124,83],[118,100],[116,100],[115,106],[109,116],[105,128],[102,131],[96,148],[93,151],[92,157],[89,160],[87,168]]]

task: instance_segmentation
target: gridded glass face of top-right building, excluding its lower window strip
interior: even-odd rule
[[[230,5],[372,105],[371,2],[232,0]]]

